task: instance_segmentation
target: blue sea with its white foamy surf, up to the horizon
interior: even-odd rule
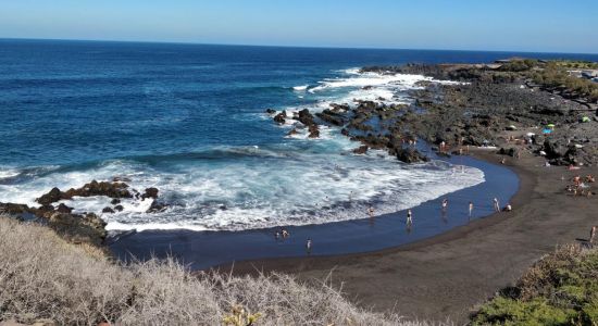
[[[35,205],[54,186],[125,177],[171,208],[124,202],[109,228],[247,229],[325,223],[416,205],[479,184],[473,167],[407,166],[331,128],[285,137],[265,109],[322,110],[352,99],[409,102],[416,76],[364,65],[590,54],[0,40],[0,201]],[[365,91],[363,86],[375,86]],[[456,173],[459,171],[459,173]],[[66,202],[101,212],[105,198]]]

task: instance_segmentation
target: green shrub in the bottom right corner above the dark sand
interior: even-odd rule
[[[565,246],[472,316],[473,325],[598,325],[598,250]]]

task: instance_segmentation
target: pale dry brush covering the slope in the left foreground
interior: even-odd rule
[[[325,283],[287,275],[191,275],[174,260],[123,266],[42,226],[0,217],[0,321],[223,325],[235,306],[260,313],[254,325],[424,325],[361,310]]]

